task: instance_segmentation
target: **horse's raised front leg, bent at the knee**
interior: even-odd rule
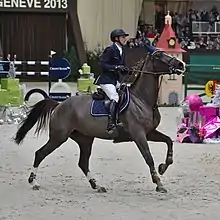
[[[150,133],[148,133],[147,140],[154,142],[164,142],[167,144],[167,156],[165,163],[161,163],[158,167],[159,174],[163,175],[166,172],[168,166],[173,163],[173,141],[170,137],[161,133],[158,130],[153,130]]]

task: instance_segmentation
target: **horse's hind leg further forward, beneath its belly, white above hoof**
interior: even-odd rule
[[[80,148],[79,167],[87,177],[91,187],[98,190],[98,192],[106,192],[104,187],[97,185],[95,178],[92,176],[89,170],[89,159],[92,151],[93,137],[85,136],[79,132],[73,132],[70,138],[74,140]]]

